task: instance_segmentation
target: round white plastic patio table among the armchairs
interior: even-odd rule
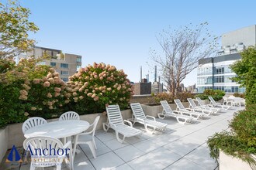
[[[90,124],[87,121],[52,121],[47,124],[41,124],[39,126],[30,128],[24,133],[24,136],[25,138],[31,138],[36,136],[67,138],[76,134],[80,134],[83,131],[86,131],[89,128],[89,126]]]

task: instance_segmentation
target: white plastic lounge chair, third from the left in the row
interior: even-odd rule
[[[192,122],[192,119],[194,117],[182,115],[182,112],[180,111],[171,110],[171,107],[166,100],[161,100],[160,103],[163,107],[163,112],[161,114],[158,114],[159,118],[164,119],[165,117],[175,117],[180,124]]]

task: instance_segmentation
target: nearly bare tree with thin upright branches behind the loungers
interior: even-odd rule
[[[163,54],[151,49],[151,59],[161,68],[167,88],[172,96],[178,94],[179,86],[192,70],[198,66],[199,59],[214,53],[217,38],[209,34],[207,22],[193,27],[181,26],[171,32],[163,30],[157,41]]]

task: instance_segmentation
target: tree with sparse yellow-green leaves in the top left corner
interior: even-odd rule
[[[13,58],[34,45],[29,32],[39,29],[29,22],[29,14],[29,8],[22,7],[16,0],[6,5],[0,2],[0,58]]]

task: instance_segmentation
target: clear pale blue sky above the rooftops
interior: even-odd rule
[[[150,74],[154,80],[150,48],[161,51],[156,36],[162,29],[209,22],[214,36],[221,36],[256,21],[255,1],[167,0],[23,0],[30,20],[40,31],[31,35],[36,46],[61,49],[82,56],[82,66],[109,63],[123,69],[133,82]],[[196,83],[196,71],[184,80]]]

